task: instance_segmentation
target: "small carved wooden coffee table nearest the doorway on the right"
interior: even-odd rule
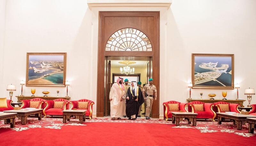
[[[176,126],[180,126],[180,118],[187,119],[188,124],[191,124],[191,121],[193,122],[193,126],[196,126],[196,113],[192,112],[171,112],[172,113],[172,124],[176,123]]]

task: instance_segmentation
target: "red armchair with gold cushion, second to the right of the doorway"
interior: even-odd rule
[[[203,105],[202,105],[203,104]],[[214,118],[216,113],[213,111],[213,103],[204,103],[201,101],[193,101],[188,103],[188,112],[197,113],[197,119],[212,119],[215,122]]]

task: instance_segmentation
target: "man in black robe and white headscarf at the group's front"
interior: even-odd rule
[[[131,120],[135,120],[139,114],[140,105],[144,102],[140,87],[132,81],[132,86],[128,88],[126,94],[126,115]]]

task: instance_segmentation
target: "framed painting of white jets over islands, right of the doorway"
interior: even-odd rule
[[[234,89],[234,54],[192,54],[192,88]]]

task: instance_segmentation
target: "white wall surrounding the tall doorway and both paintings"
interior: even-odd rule
[[[98,11],[139,10],[160,11],[161,118],[164,101],[186,102],[189,96],[191,53],[235,54],[235,83],[240,83],[239,96],[245,99],[245,88],[256,89],[255,7],[254,0],[173,0],[168,10],[165,7],[90,10],[84,0],[8,0],[5,7],[5,1],[0,1],[0,96],[9,97],[6,86],[11,83],[17,88],[14,96],[20,94],[20,80],[26,76],[27,52],[67,52],[71,100],[87,98],[96,102]],[[64,87],[25,87],[25,95],[31,95],[30,88],[36,88],[36,95],[42,95],[43,89],[48,89],[50,96],[55,96],[57,89],[60,96],[66,94]],[[214,92],[220,99],[221,91],[228,91],[228,99],[236,98],[235,89],[192,89],[192,98],[203,92],[203,98],[208,99],[207,94]],[[256,96],[251,103],[256,103]]]

